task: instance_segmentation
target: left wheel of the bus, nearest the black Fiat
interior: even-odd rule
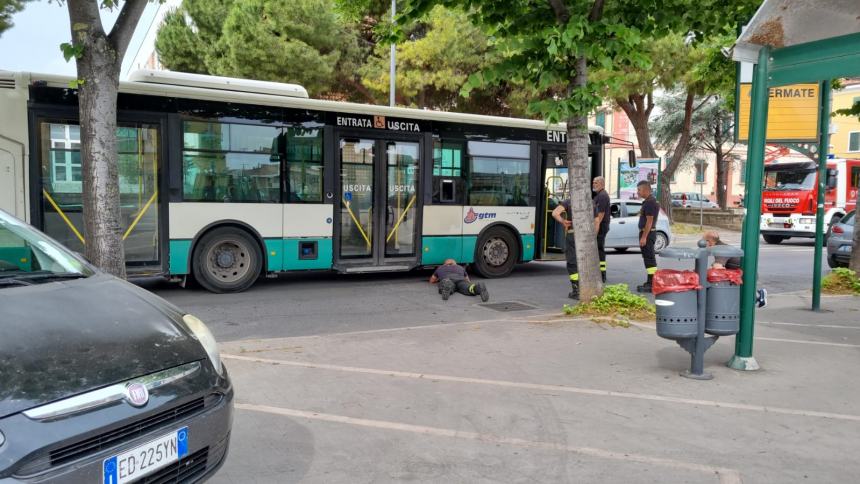
[[[194,278],[214,293],[242,292],[251,287],[263,267],[263,254],[254,237],[242,229],[219,227],[200,238],[192,257]]]

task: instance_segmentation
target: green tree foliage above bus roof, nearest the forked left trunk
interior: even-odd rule
[[[357,32],[331,0],[185,0],[156,50],[170,69],[297,83],[315,96],[358,86]]]

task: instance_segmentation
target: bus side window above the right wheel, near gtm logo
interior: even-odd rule
[[[470,141],[468,149],[470,205],[528,205],[528,145]]]

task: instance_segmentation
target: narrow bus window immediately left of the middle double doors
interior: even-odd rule
[[[287,128],[287,200],[292,203],[322,203],[322,130]]]

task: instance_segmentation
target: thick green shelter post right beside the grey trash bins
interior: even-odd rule
[[[753,72],[752,102],[750,113],[749,145],[747,147],[746,197],[742,248],[743,287],[741,287],[741,324],[735,338],[735,355],[729,367],[736,370],[757,370],[758,363],[752,355],[753,330],[755,327],[756,276],[758,273],[759,226],[761,224],[761,183],[764,174],[764,147],[767,138],[767,64],[770,48],[762,47],[758,64]]]

